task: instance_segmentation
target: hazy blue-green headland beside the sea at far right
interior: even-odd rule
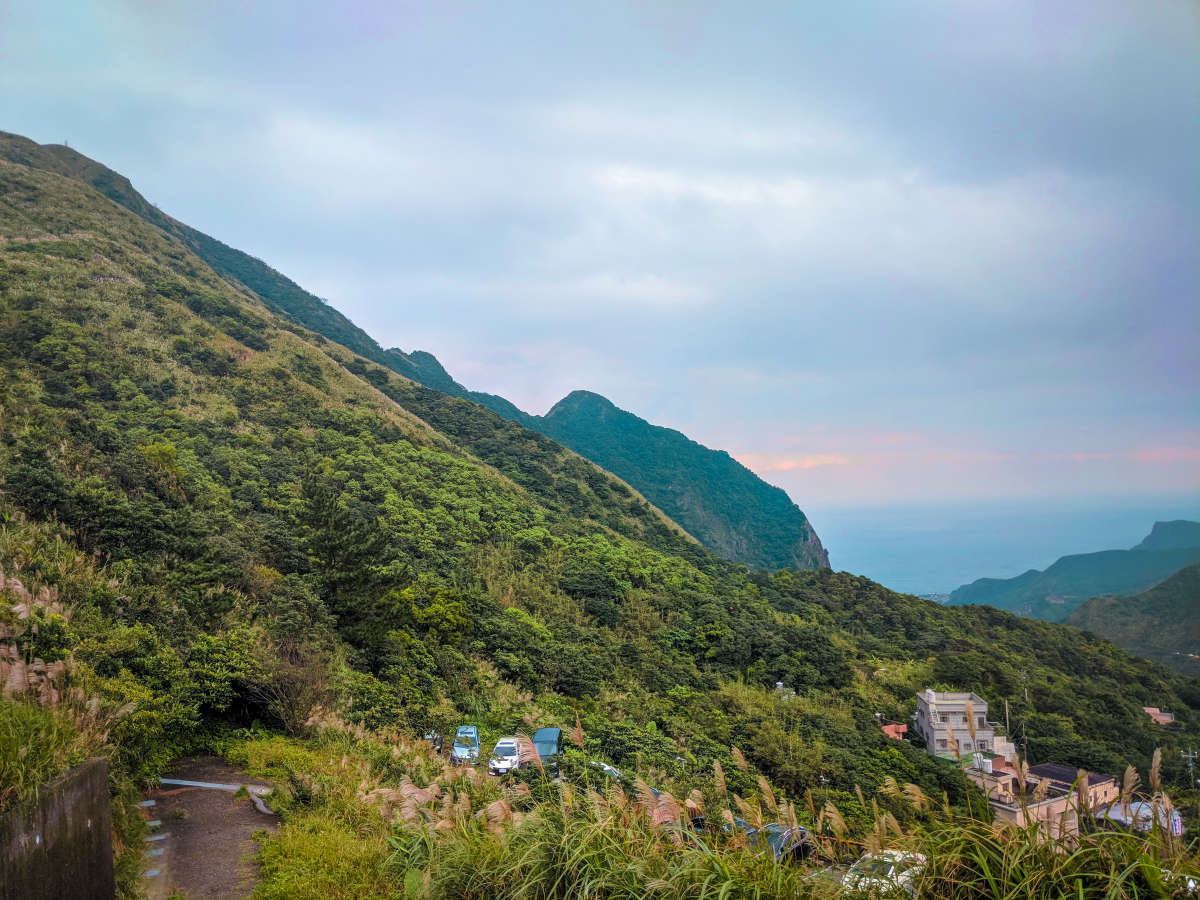
[[[954,590],[949,602],[1061,622],[1085,600],[1136,594],[1194,563],[1200,563],[1200,522],[1156,522],[1130,550],[1066,556],[1045,571],[1030,569],[1015,578],[979,578]]]

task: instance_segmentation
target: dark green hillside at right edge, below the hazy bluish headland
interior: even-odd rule
[[[1072,610],[1063,624],[1200,677],[1200,565],[1189,565],[1135,596],[1093,596]]]

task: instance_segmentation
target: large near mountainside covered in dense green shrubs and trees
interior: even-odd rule
[[[588,755],[664,780],[719,763],[730,790],[834,803],[859,832],[888,784],[970,800],[958,768],[878,728],[925,686],[1008,701],[1034,762],[1120,774],[1160,748],[1177,787],[1200,733],[1200,683],[1106,641],[724,560],[550,438],[10,162],[0,492],[10,659],[61,664],[103,716],[118,804],[178,754],[270,746],[322,710],[409,738],[578,721]],[[19,706],[7,720],[58,727]],[[48,767],[78,755],[68,732],[38,740]]]

